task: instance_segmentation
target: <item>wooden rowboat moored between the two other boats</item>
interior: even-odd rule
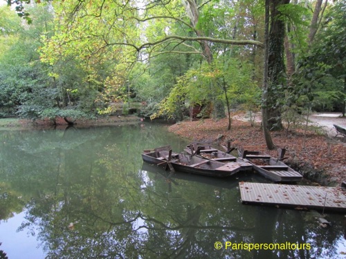
[[[224,151],[220,151],[219,149],[212,148],[209,143],[204,142],[194,142],[186,148],[184,151],[189,155],[196,155],[197,157],[201,157],[203,159],[230,163],[233,162],[235,164],[239,164],[241,167],[240,171],[251,171],[253,169],[253,165],[249,162],[245,162],[242,159],[235,157],[234,155],[230,155]]]

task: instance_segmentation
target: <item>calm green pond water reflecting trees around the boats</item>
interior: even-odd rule
[[[157,124],[0,131],[0,250],[16,258],[340,258],[345,217],[244,205],[240,181],[143,164]],[[1,255],[0,255],[1,258]]]

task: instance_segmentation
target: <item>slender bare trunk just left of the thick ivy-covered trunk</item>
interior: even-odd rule
[[[264,68],[263,68],[263,90],[262,90],[262,127],[266,146],[269,149],[274,149],[273,140],[271,140],[271,133],[268,131],[268,118],[267,114],[267,100],[268,100],[268,44],[269,44],[269,0],[266,0],[266,17],[264,28]]]

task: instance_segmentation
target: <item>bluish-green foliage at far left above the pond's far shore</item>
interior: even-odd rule
[[[15,23],[17,27],[13,26],[17,30],[11,36],[15,41],[6,47],[6,52],[0,53],[0,108],[3,113],[30,119],[53,118],[67,113],[69,117],[92,114],[98,90],[90,87],[90,82],[83,81],[86,74],[78,70],[75,59],[55,67],[55,72],[61,76],[50,73],[51,66],[39,60],[40,35],[51,35],[53,15],[50,7],[33,6],[30,13],[35,18],[30,26],[23,26],[14,19],[18,22]],[[70,106],[73,108],[68,108]]]

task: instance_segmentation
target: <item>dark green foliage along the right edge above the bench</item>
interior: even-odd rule
[[[292,104],[300,97],[318,111],[332,111],[344,102],[346,67],[346,3],[338,1],[327,12],[310,52],[301,57],[290,88]]]

